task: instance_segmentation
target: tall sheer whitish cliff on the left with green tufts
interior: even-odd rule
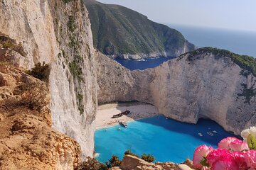
[[[75,138],[92,156],[97,107],[96,74],[90,22],[80,0],[0,3],[0,32],[23,45],[19,67],[50,63],[53,127]]]

